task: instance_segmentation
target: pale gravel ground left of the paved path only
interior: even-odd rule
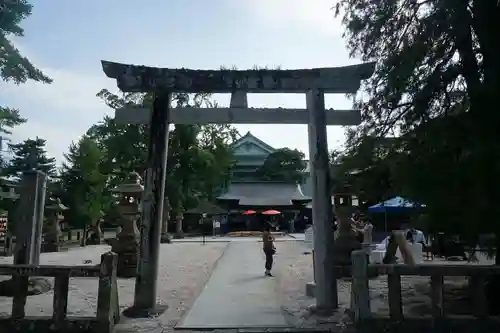
[[[158,281],[158,303],[168,304],[168,310],[155,319],[129,319],[122,316],[116,333],[169,332],[193,304],[208,281],[217,260],[227,243],[162,244]],[[81,265],[84,260],[100,262],[100,255],[109,246],[89,246],[68,252],[42,254],[42,264]],[[12,263],[12,258],[1,258],[0,263]],[[119,279],[120,308],[123,311],[133,303],[134,279]],[[95,316],[97,309],[97,279],[70,280],[68,299],[69,316]],[[53,293],[29,296],[26,304],[28,316],[51,316]],[[12,299],[0,297],[0,315],[10,316]]]

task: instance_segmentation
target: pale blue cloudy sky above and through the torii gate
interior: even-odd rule
[[[100,60],[163,67],[283,68],[342,66],[349,59],[333,0],[86,0],[32,1],[26,36],[16,45],[54,79],[51,85],[0,85],[2,103],[21,109],[28,123],[13,140],[40,136],[61,159],[103,115],[111,114],[95,94],[116,91]],[[229,96],[216,96],[223,104]],[[249,95],[251,106],[305,107],[303,95]],[[327,106],[351,107],[343,96]],[[305,125],[242,125],[238,129],[279,148],[307,155]],[[343,142],[341,128],[329,128],[329,147]]]

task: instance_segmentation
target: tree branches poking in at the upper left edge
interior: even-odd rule
[[[31,15],[33,6],[26,0],[2,1],[0,3],[0,77],[15,84],[28,80],[51,83],[52,80],[23,57],[9,40],[10,36],[22,37],[20,24]],[[10,129],[26,122],[19,110],[0,105],[0,133],[10,134]]]

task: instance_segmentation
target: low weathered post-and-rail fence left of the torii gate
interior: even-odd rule
[[[117,255],[104,253],[97,266],[0,265],[0,275],[12,276],[15,293],[10,318],[0,318],[3,332],[110,333],[119,320]],[[52,317],[26,317],[30,276],[55,277]],[[70,277],[99,278],[96,317],[67,317]]]

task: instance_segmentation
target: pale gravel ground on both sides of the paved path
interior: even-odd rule
[[[158,281],[158,303],[168,304],[168,310],[154,319],[129,319],[122,316],[115,333],[164,333],[172,332],[174,326],[192,306],[203,286],[208,281],[217,260],[222,256],[228,243],[210,242],[162,244]],[[328,329],[334,332],[349,328],[346,310],[350,303],[350,282],[338,281],[339,310],[331,317],[311,315],[308,307],[314,299],[305,295],[305,285],[313,280],[312,256],[304,254],[303,242],[276,242],[277,254],[273,272],[276,276],[276,294],[288,323],[298,329]],[[68,252],[42,254],[42,264],[81,265],[91,260],[89,265],[100,261],[100,255],[109,251],[106,245],[75,248]],[[12,263],[12,258],[0,258],[0,263]],[[7,278],[7,277],[1,277]],[[403,306],[405,312],[426,312],[429,305],[428,279],[425,277],[402,277]],[[119,279],[120,308],[132,305],[134,279]],[[422,287],[424,286],[424,287]],[[388,314],[386,277],[370,281],[372,311]],[[51,316],[53,293],[28,297],[28,316]],[[97,279],[78,278],[70,280],[69,316],[94,316],[97,303]],[[0,315],[9,316],[12,300],[0,297]],[[424,308],[424,310],[422,310]],[[220,333],[235,333],[245,330],[223,330]],[[217,333],[219,331],[210,331]],[[252,331],[254,332],[254,331]]]

